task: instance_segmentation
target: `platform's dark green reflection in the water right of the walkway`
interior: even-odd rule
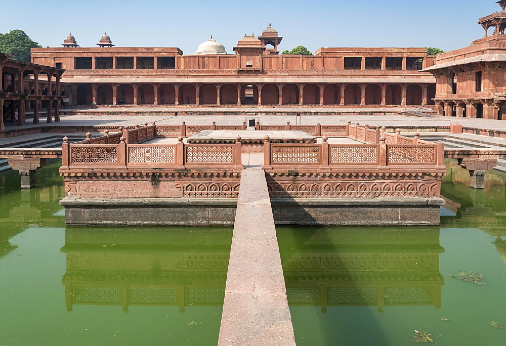
[[[293,306],[441,306],[439,228],[278,228]]]

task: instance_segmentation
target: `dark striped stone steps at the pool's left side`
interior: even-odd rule
[[[69,142],[78,142],[86,139],[86,134],[36,134],[0,140],[0,148],[59,148],[63,137],[67,136]],[[100,136],[94,134],[93,137]],[[10,169],[7,159],[0,159],[0,171]]]

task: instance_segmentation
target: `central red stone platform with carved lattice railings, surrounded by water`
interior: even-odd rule
[[[233,225],[244,166],[258,166],[278,225],[439,224],[442,143],[350,122],[246,128],[145,124],[65,139],[66,223]]]

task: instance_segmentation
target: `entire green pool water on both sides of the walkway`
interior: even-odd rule
[[[66,228],[58,166],[0,172],[0,345],[216,344],[232,228]],[[277,229],[299,345],[505,343],[506,174],[448,167],[440,227]]]

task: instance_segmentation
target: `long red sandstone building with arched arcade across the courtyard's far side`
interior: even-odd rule
[[[32,62],[65,69],[73,105],[431,105],[435,78],[425,48],[320,48],[279,55],[269,27],[227,54],[213,38],[194,55],[179,48],[97,48],[68,35],[62,48],[34,48]],[[271,48],[269,48],[271,47]]]

